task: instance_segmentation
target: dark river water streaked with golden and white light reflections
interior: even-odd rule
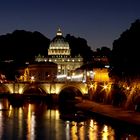
[[[104,118],[63,120],[58,107],[43,102],[26,102],[21,107],[0,99],[0,140],[138,140],[136,128],[107,123]]]

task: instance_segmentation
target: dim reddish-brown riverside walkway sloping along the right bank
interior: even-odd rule
[[[89,100],[84,100],[76,104],[76,107],[90,113],[102,115],[114,121],[124,122],[129,125],[140,127],[140,112],[125,110],[112,105],[100,104]]]

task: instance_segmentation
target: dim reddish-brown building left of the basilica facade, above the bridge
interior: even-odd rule
[[[57,64],[53,62],[40,62],[29,64],[25,69],[20,69],[20,81],[53,81],[57,74]]]

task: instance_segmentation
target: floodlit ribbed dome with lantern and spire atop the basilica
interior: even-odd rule
[[[62,35],[60,28],[58,29],[56,36],[50,43],[48,49],[48,55],[52,56],[68,56],[70,55],[70,48],[68,42]]]

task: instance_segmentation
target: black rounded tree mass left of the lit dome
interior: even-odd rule
[[[41,33],[16,30],[0,36],[0,59],[22,63],[34,60],[38,53],[47,55],[50,40]]]

